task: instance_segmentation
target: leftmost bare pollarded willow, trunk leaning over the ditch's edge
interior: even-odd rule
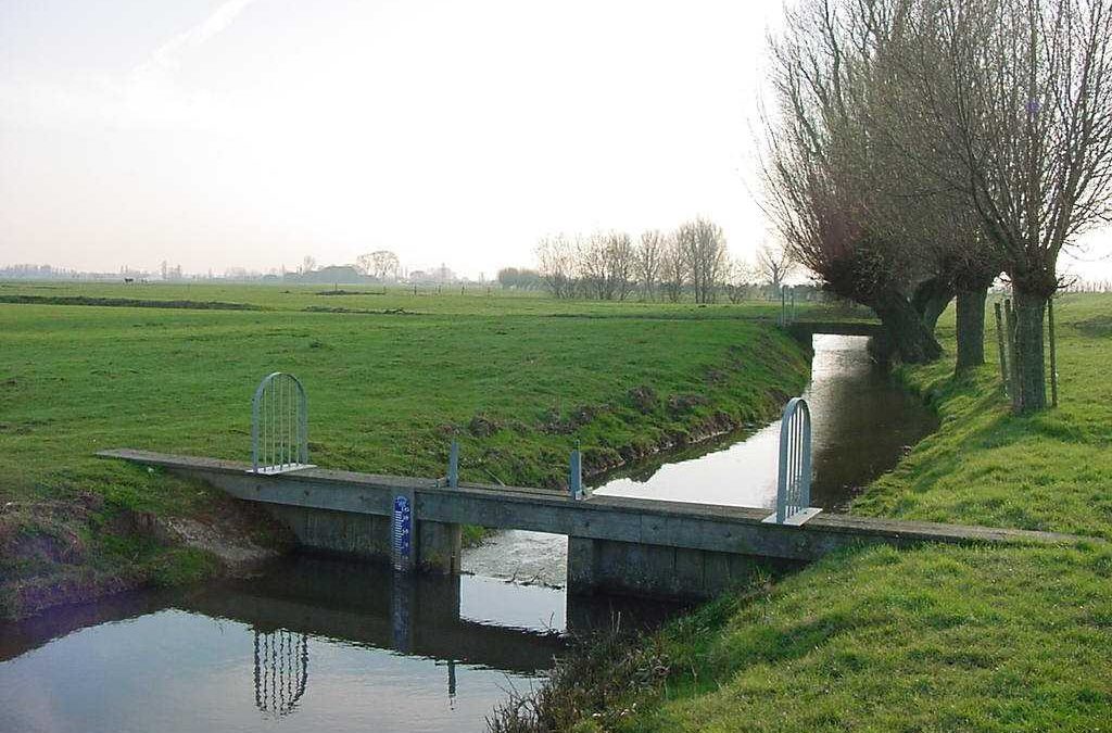
[[[887,95],[891,20],[860,7],[803,0],[771,43],[774,109],[766,115],[766,211],[795,258],[837,295],[871,307],[911,363],[942,349],[910,294],[930,276],[891,195],[903,160],[870,128]]]

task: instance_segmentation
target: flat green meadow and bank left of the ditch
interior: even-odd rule
[[[457,437],[465,481],[554,488],[577,442],[599,470],[772,418],[806,379],[803,350],[757,319],[765,305],[427,295],[411,315],[396,291],[287,290],[4,287],[24,301],[0,305],[0,615],[214,572],[170,519],[280,544],[216,492],[92,455],[246,459],[250,397],[272,370],[306,384],[319,465],[440,475]],[[120,297],[142,305],[92,305]],[[381,313],[305,309],[320,300]]]

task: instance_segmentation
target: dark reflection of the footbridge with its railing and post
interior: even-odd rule
[[[534,628],[500,626],[460,615],[460,585],[489,583],[522,594],[500,581],[469,576],[409,575],[366,563],[300,557],[266,576],[222,584],[190,596],[179,607],[249,624],[255,633],[255,700],[265,713],[296,710],[306,692],[312,638],[421,656],[445,666],[449,701],[456,694],[456,666],[468,664],[507,673],[534,674],[552,667],[563,648],[563,630],[545,630],[550,608],[536,607]],[[485,592],[489,588],[484,587]],[[553,597],[558,598],[556,592]],[[638,611],[631,598],[566,597],[567,625],[587,630],[623,623],[655,623],[676,606]],[[498,612],[492,600],[485,612]],[[629,622],[629,620],[633,620]]]

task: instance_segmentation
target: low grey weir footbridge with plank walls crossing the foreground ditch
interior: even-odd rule
[[[709,597],[743,582],[754,558],[806,562],[862,544],[1053,543],[1078,538],[818,514],[805,524],[766,521],[767,509],[594,496],[307,467],[252,473],[214,458],[116,449],[98,455],[200,478],[244,501],[262,503],[308,547],[397,561],[395,505],[411,511],[409,547],[423,571],[459,572],[460,525],[568,536],[568,590]]]

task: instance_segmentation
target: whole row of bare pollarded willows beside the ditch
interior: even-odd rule
[[[957,370],[987,289],[1014,298],[1015,412],[1046,406],[1063,248],[1112,218],[1112,0],[798,0],[771,40],[765,207],[833,293],[929,361],[956,298]]]

